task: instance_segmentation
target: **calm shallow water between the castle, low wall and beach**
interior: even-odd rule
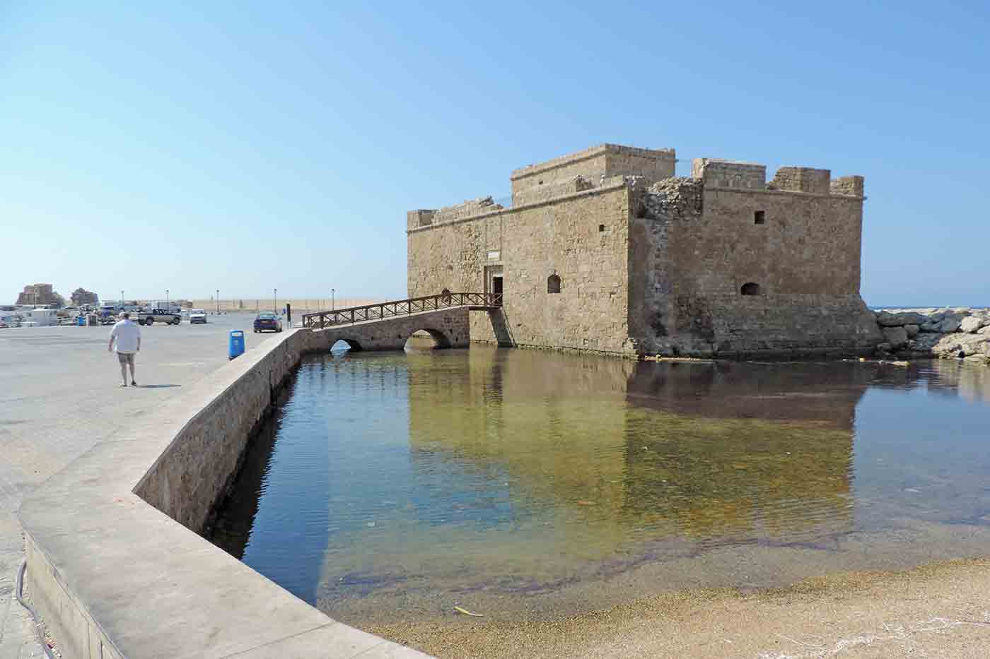
[[[990,546],[990,369],[308,357],[211,539],[369,625],[532,619]]]

